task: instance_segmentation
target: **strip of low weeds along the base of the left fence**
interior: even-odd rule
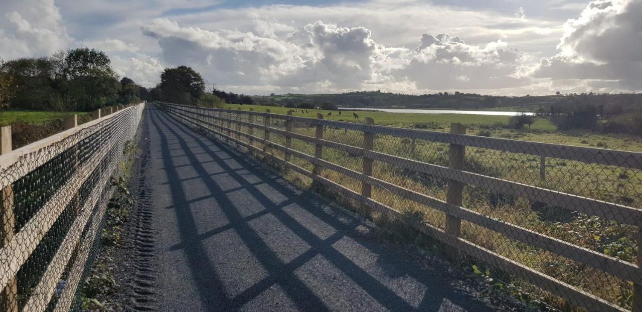
[[[121,163],[121,175],[112,179],[114,195],[109,200],[105,212],[105,225],[101,232],[101,249],[96,260],[83,282],[80,293],[82,309],[85,311],[111,311],[109,296],[116,293],[119,285],[114,279],[114,268],[117,265],[114,255],[121,247],[124,225],[130,216],[133,200],[127,184],[132,175],[136,144],[127,141],[123,154],[125,160]]]

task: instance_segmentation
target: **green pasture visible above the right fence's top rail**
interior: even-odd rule
[[[288,114],[288,110],[290,110],[290,108],[285,107],[238,104],[226,104],[224,108],[241,110],[254,108],[257,112],[265,112],[267,108],[274,114]],[[507,139],[642,152],[642,138],[640,137],[632,135],[606,135],[584,130],[562,132],[558,131],[557,127],[550,121],[543,118],[535,119],[535,123],[531,126],[530,130],[528,128],[513,130],[504,128],[504,126],[508,124],[509,116],[354,111],[360,117],[360,119],[357,120],[352,117],[352,111],[343,110],[342,114],[338,115],[336,110],[308,109],[308,113],[302,113],[300,108],[297,108],[297,112],[293,114],[293,116],[315,118],[318,112],[324,114],[325,119],[331,120],[363,122],[365,117],[371,117],[377,125],[422,128],[435,131],[447,131],[451,123],[461,123],[468,128],[468,134],[489,132],[492,137],[503,137]],[[331,116],[327,116],[329,112],[332,112]]]

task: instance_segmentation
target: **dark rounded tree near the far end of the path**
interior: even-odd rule
[[[194,104],[205,92],[205,82],[191,67],[178,66],[160,74],[160,89],[166,101]]]

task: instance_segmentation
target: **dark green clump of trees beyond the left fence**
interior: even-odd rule
[[[90,111],[147,98],[147,89],[127,77],[119,80],[109,57],[96,49],[0,60],[0,105],[4,108]]]

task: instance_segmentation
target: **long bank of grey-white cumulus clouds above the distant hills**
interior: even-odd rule
[[[528,83],[521,69],[524,53],[502,40],[476,46],[447,33],[424,33],[410,49],[377,44],[365,27],[317,21],[299,30],[282,29],[286,36],[273,37],[272,31],[208,31],[157,19],[143,33],[158,41],[164,62],[193,65],[220,85],[327,92],[390,90],[391,85],[404,91],[501,89]]]

